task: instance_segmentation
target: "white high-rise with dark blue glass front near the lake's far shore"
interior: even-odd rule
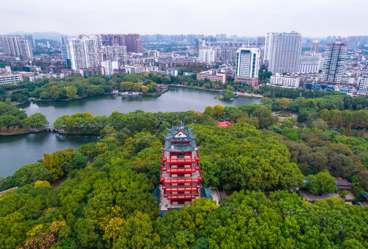
[[[246,46],[237,51],[234,81],[258,85],[259,49],[256,46]]]

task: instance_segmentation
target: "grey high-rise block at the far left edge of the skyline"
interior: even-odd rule
[[[6,56],[33,60],[33,53],[28,40],[23,40],[19,35],[0,35],[0,42]]]

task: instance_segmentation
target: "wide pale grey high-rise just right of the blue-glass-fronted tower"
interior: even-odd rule
[[[272,74],[297,73],[301,64],[301,33],[268,33],[265,59]]]

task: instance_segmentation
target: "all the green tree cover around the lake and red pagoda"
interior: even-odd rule
[[[150,91],[160,77],[162,82],[167,76],[121,74],[107,83],[103,77],[72,76],[23,83],[15,92],[34,87],[31,94],[41,93],[54,86],[59,91],[77,82],[81,92],[89,84],[106,87],[102,83]],[[310,203],[290,193],[304,180],[311,193],[336,192],[333,177],[341,177],[351,182],[357,200],[365,200],[367,97],[264,90],[271,98],[262,98],[260,105],[215,105],[202,113],[137,110],[59,117],[55,128],[99,134],[100,140],[45,153],[0,179],[2,190],[19,187],[0,195],[0,248],[368,248],[367,207],[337,198]],[[280,119],[273,112],[298,118]],[[0,124],[7,131],[47,123],[33,115],[0,103]],[[151,192],[159,184],[162,134],[179,118],[197,133],[202,184],[234,194],[219,205],[196,199],[161,217]],[[218,121],[234,123],[218,127]],[[307,128],[298,128],[303,125]],[[264,191],[271,193],[266,197]]]

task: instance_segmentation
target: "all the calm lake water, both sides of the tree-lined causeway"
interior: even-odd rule
[[[24,103],[17,107],[28,115],[35,112],[45,114],[52,125],[63,114],[90,112],[93,115],[109,116],[112,112],[122,113],[143,110],[145,112],[177,112],[205,110],[208,105],[239,106],[259,103],[259,98],[237,97],[234,101],[214,99],[219,92],[211,92],[189,87],[169,87],[161,96],[93,96],[73,101],[38,101]],[[121,105],[121,108],[118,107]],[[98,141],[97,136],[59,135],[56,132],[29,133],[13,136],[0,136],[0,175],[13,175],[24,164],[31,164],[43,158],[43,153],[60,151],[68,146],[74,149],[82,144]]]

